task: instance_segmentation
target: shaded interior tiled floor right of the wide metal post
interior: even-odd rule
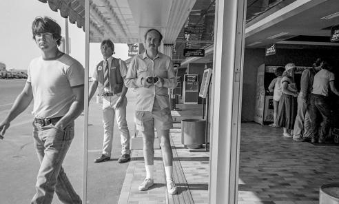
[[[320,185],[339,182],[339,146],[297,143],[282,131],[242,124],[238,203],[318,203]]]

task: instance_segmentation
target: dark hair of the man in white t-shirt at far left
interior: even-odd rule
[[[61,43],[61,27],[59,26],[54,19],[50,17],[37,17],[32,23],[32,34],[33,39],[37,34],[44,32],[50,32],[53,35],[53,38],[56,39],[56,44],[60,45]]]

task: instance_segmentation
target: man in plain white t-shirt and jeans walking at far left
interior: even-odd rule
[[[25,87],[0,123],[0,134],[34,99],[33,139],[41,165],[31,203],[52,203],[54,191],[62,203],[81,203],[61,165],[74,138],[74,119],[83,112],[83,66],[58,50],[61,28],[53,19],[37,17],[32,34],[41,57],[31,61]]]

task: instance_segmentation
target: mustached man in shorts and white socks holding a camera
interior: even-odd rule
[[[165,165],[167,192],[176,194],[176,185],[172,179],[173,154],[170,145],[172,115],[168,89],[176,87],[174,68],[170,57],[158,51],[162,34],[156,29],[145,34],[145,52],[138,54],[130,63],[125,77],[127,88],[136,90],[136,129],[143,135],[143,156],[145,159],[146,179],[138,189],[149,189],[153,184],[154,167],[154,127],[161,138],[161,150]]]

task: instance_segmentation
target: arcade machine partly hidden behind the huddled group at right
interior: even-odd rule
[[[276,78],[276,68],[285,67],[285,65],[265,65],[262,64],[258,68],[256,79],[256,108],[254,121],[261,125],[267,125],[274,121],[273,92],[269,92],[269,83]],[[296,66],[294,79],[298,90],[300,90],[300,78],[302,71],[311,68],[306,66]]]

